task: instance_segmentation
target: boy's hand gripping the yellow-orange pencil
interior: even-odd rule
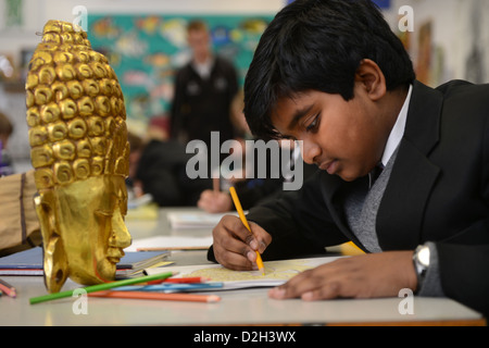
[[[226,215],[212,231],[214,257],[226,269],[258,270],[256,252],[263,253],[272,236],[259,225],[249,222],[252,234],[237,216]]]

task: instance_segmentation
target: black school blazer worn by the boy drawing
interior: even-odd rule
[[[342,192],[362,181],[319,171],[302,189],[251,209],[248,219],[273,236],[263,258],[319,253],[348,240],[363,248],[342,209]],[[385,251],[436,243],[444,294],[489,313],[489,85],[414,82],[377,235]]]

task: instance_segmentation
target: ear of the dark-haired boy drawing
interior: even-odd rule
[[[373,60],[364,59],[360,62],[355,82],[362,84],[373,101],[381,99],[387,92],[386,76]]]

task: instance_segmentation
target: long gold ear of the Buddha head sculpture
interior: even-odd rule
[[[68,276],[66,252],[55,222],[52,192],[45,192],[34,199],[40,223],[43,248],[45,284],[49,293],[59,293]]]

